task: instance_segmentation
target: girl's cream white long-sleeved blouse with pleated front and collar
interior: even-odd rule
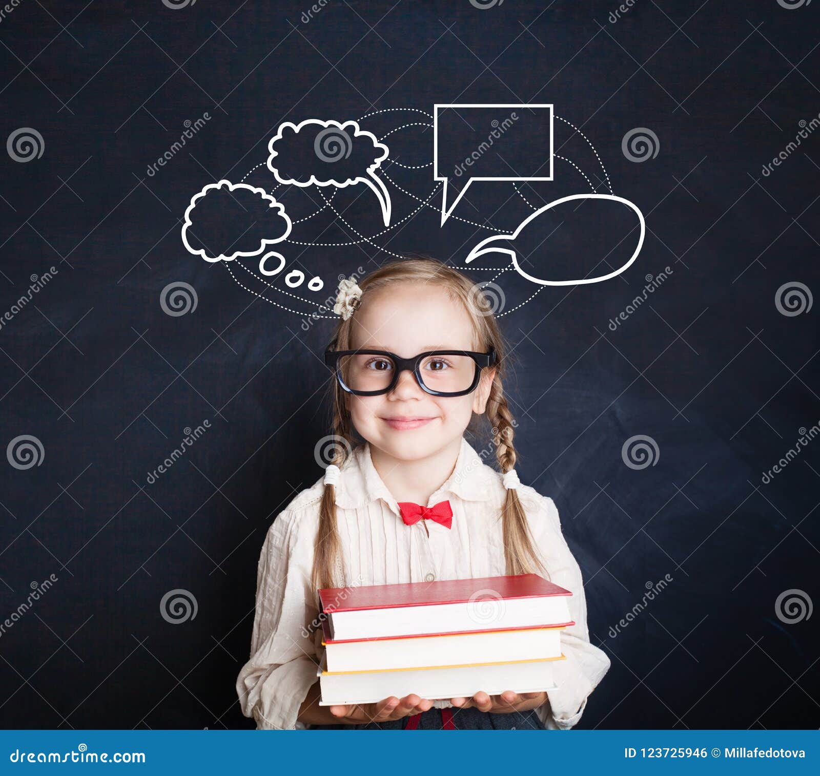
[[[262,546],[251,658],[236,681],[242,712],[253,716],[257,729],[310,727],[296,717],[307,691],[317,682],[324,650],[321,627],[312,625],[319,601],[310,584],[323,488],[319,479],[300,492],[271,524]],[[358,447],[341,466],[336,486],[337,524],[347,570],[344,583],[378,585],[505,574],[500,520],[504,496],[501,475],[462,440],[453,474],[427,504],[448,499],[452,527],[433,520],[404,524],[398,504],[373,466],[370,447]],[[604,651],[590,644],[581,570],[563,538],[553,500],[524,485],[519,486],[518,496],[550,579],[572,592],[569,608],[575,621],[561,634],[567,659],[554,664],[557,688],[547,693],[549,700],[536,713],[544,728],[572,728],[610,662]],[[422,523],[427,524],[429,537]],[[433,705],[452,706],[446,700]]]

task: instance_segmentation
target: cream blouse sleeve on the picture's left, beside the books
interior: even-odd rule
[[[310,588],[312,542],[299,533],[298,515],[281,513],[259,556],[251,657],[236,692],[242,713],[260,730],[306,729],[298,710],[317,682],[321,628],[308,632],[318,615]]]

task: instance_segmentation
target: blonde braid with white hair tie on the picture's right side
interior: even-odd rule
[[[507,397],[503,394],[501,379],[498,375],[490,386],[490,397],[487,399],[487,418],[495,435],[495,457],[503,473],[515,467],[516,452],[513,446],[514,423]],[[508,488],[502,508],[504,559],[507,574],[538,573],[534,567],[549,579],[549,571],[535,551],[526,512],[521,499],[514,488]]]

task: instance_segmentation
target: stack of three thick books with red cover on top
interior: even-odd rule
[[[571,595],[537,574],[323,588],[320,706],[552,690]]]

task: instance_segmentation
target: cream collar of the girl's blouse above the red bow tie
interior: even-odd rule
[[[427,506],[443,501],[448,494],[463,501],[486,501],[490,498],[488,474],[494,474],[494,470],[485,466],[481,456],[473,450],[466,439],[462,438],[453,474],[450,474],[449,479],[430,496],[430,503]],[[357,509],[381,499],[397,515],[400,514],[398,503],[373,465],[370,444],[367,442],[357,447],[353,454],[348,456],[347,461],[344,461],[335,492],[336,505],[342,509]]]

